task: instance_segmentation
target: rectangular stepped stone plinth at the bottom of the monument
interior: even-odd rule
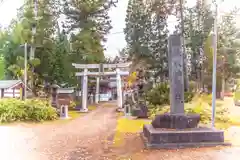
[[[149,149],[176,149],[231,145],[224,142],[224,132],[211,128],[164,129],[144,125],[141,135]]]

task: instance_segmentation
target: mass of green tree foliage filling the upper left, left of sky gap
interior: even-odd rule
[[[76,86],[78,80],[72,63],[100,63],[104,61],[104,46],[111,21],[108,11],[115,6],[110,0],[98,1],[38,1],[35,19],[33,3],[26,0],[17,17],[7,29],[0,28],[0,55],[4,59],[5,79],[21,79],[23,76],[23,44],[27,42],[35,50],[32,65],[29,60],[29,88],[34,93],[44,83]],[[67,19],[62,26],[58,19]],[[67,25],[66,25],[67,24]],[[36,25],[36,33],[32,27]],[[28,47],[30,59],[30,47]],[[20,60],[20,61],[19,61]],[[36,62],[36,61],[35,61]]]

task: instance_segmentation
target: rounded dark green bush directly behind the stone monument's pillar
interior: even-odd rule
[[[168,83],[157,84],[153,89],[147,93],[147,101],[153,105],[166,105],[170,104],[170,87]],[[194,97],[193,92],[184,93],[184,101],[190,102]]]

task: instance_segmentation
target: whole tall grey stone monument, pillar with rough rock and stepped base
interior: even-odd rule
[[[171,35],[168,41],[170,78],[170,113],[157,115],[144,125],[142,138],[148,148],[184,148],[228,145],[224,132],[198,127],[200,115],[184,114],[183,53],[181,36]]]

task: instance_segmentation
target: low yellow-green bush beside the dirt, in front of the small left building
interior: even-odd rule
[[[38,99],[1,99],[0,122],[47,121],[57,119],[57,111],[48,101]]]

